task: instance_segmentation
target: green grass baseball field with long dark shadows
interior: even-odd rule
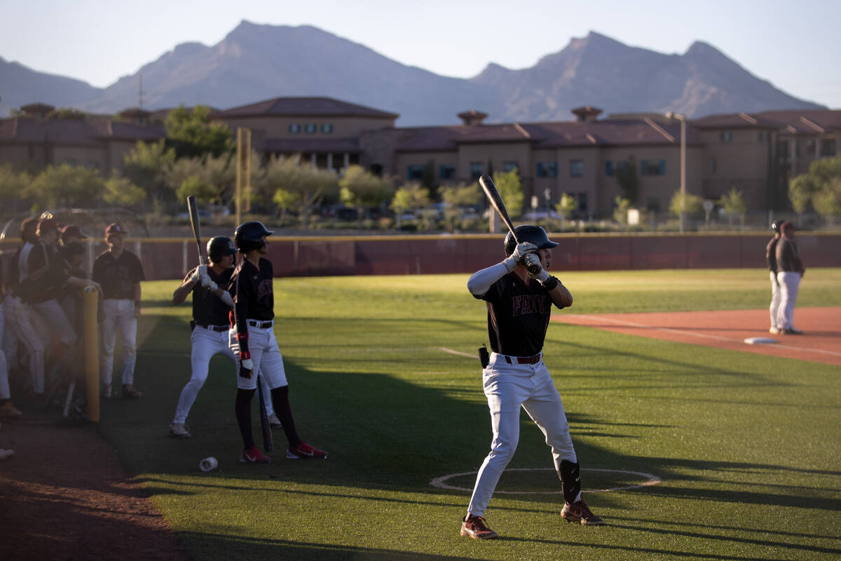
[[[755,309],[761,270],[558,274],[577,314]],[[573,325],[550,325],[546,363],[563,397],[585,495],[605,527],[568,524],[542,435],[521,442],[486,518],[501,538],[458,536],[468,492],[431,479],[475,472],[490,442],[479,362],[484,304],[467,275],[288,278],[275,331],[304,440],[327,461],[238,462],[235,372],[214,358],[188,418],[167,437],[190,375],[177,281],[145,283],[140,401],[103,402],[102,431],[195,559],[837,559],[841,368]],[[810,269],[801,306],[841,305],[841,269]],[[119,360],[119,357],[118,357]],[[256,401],[256,400],[255,400]],[[255,405],[255,437],[260,442]],[[220,468],[198,470],[207,456]],[[470,488],[473,474],[448,480]]]

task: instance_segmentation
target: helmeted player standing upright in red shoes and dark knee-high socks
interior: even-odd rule
[[[274,410],[283,424],[289,442],[286,457],[327,458],[324,450],[309,446],[295,430],[283,357],[274,336],[272,262],[262,257],[268,253],[267,236],[271,235],[262,222],[244,222],[234,232],[234,244],[245,256],[236,267],[228,288],[234,294],[235,321],[230,331],[230,345],[238,370],[235,412],[244,447],[240,461],[272,461],[257,448],[251,434],[251,398],[257,389],[257,372],[266,378]]]

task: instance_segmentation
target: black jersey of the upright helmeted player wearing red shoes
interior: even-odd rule
[[[228,290],[234,297],[234,316],[237,333],[247,333],[246,320],[274,319],[272,262],[260,258],[260,267],[243,259],[231,275]]]

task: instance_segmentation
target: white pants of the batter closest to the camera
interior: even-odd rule
[[[491,352],[488,367],[482,371],[482,384],[488,398],[494,437],[470,497],[468,512],[473,516],[484,516],[496,484],[514,456],[520,440],[521,407],[546,437],[558,473],[563,460],[578,462],[561,396],[542,360],[536,364],[520,364],[512,357],[508,363],[505,355]]]

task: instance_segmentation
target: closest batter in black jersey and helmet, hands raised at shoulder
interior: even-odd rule
[[[552,248],[546,231],[538,226],[515,229],[505,237],[505,260],[468,279],[468,290],[488,307],[489,362],[482,371],[494,437],[490,453],[479,468],[462,536],[492,539],[484,511],[502,472],[514,456],[520,438],[520,408],[532,417],[552,448],[553,463],[561,479],[564,505],[561,516],[586,525],[604,522],[581,500],[578,458],[575,455],[563,403],[543,363],[543,340],[552,304],[565,308],[572,294],[547,273]]]

